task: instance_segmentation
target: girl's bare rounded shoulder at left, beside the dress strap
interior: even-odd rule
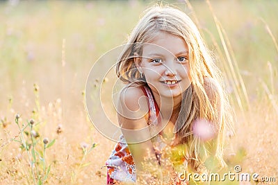
[[[124,87],[120,92],[118,107],[121,116],[130,119],[139,119],[148,112],[147,98],[142,87]]]

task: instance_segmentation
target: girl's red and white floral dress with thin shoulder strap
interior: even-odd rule
[[[158,124],[158,105],[154,100],[152,91],[149,87],[142,87],[142,91],[148,99],[149,119],[148,125],[155,126]],[[136,168],[133,157],[124,136],[120,136],[120,141],[116,144],[111,156],[106,161],[107,167],[107,184],[115,182],[136,182]]]

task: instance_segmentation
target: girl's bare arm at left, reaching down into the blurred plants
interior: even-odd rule
[[[149,173],[142,166],[146,158],[152,166],[159,168],[152,141],[149,140],[151,134],[147,128],[148,111],[147,98],[140,87],[126,87],[121,92],[117,112],[118,121],[136,164],[137,178]],[[138,143],[138,141],[142,142]]]

